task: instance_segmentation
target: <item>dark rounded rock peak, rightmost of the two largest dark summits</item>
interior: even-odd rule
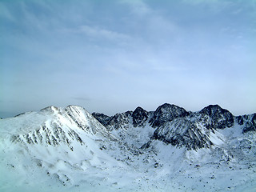
[[[202,119],[206,122],[205,126],[210,130],[234,126],[233,114],[218,105],[206,106],[199,114],[202,114]]]

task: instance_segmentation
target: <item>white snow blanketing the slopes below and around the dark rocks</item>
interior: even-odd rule
[[[2,119],[0,191],[256,190],[256,135],[242,134],[238,124],[210,132],[210,148],[186,150],[152,140],[140,149],[155,129],[128,121],[128,128],[108,131],[79,106],[50,106]],[[58,127],[62,132],[56,134]],[[37,130],[42,142],[36,143]],[[22,142],[14,142],[13,135]],[[52,143],[52,136],[58,144],[46,142]],[[252,150],[242,147],[247,143]]]

